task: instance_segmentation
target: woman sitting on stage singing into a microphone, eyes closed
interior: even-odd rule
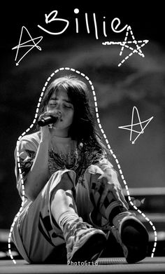
[[[48,121],[20,140],[25,203],[12,240],[29,263],[94,262],[109,231],[128,263],[147,254],[148,232],[129,212],[110,152],[96,131],[88,93],[79,78],[56,78],[38,115]],[[16,150],[15,160],[22,196]]]

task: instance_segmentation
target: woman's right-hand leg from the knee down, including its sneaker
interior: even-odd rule
[[[122,193],[116,193],[116,189],[114,192],[106,191],[105,181],[99,179],[103,175],[99,167],[92,165],[87,172],[90,174],[90,198],[94,205],[91,214],[93,223],[97,224],[99,220],[101,225],[101,217],[107,219],[110,231],[122,245],[127,262],[134,263],[144,259],[148,247],[148,232],[145,226],[135,214],[129,212],[127,203],[123,203]]]

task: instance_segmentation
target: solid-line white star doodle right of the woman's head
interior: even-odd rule
[[[134,122],[134,111],[135,110],[136,110],[136,114],[138,116],[139,123],[133,123]],[[142,133],[144,133],[144,129],[147,127],[148,123],[150,123],[150,121],[152,120],[152,118],[153,118],[153,116],[151,118],[149,118],[148,120],[145,120],[145,121],[141,122],[141,118],[140,118],[140,116],[138,114],[138,109],[136,107],[134,107],[133,110],[132,110],[131,125],[122,125],[122,126],[120,126],[118,128],[121,128],[122,130],[130,130],[130,142],[131,142],[131,144],[135,144],[136,139],[138,139],[138,137]],[[145,124],[144,127],[143,127],[143,124]],[[136,125],[140,125],[141,131],[133,130],[133,127],[136,126]],[[138,135],[136,136],[136,138],[133,141],[132,141],[132,132],[138,133]]]

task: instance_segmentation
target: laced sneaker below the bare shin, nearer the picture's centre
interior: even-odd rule
[[[64,228],[68,261],[96,261],[106,245],[106,234],[76,219]]]

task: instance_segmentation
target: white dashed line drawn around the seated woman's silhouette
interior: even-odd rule
[[[17,218],[20,216],[20,212],[22,212],[22,207],[24,205],[24,181],[23,181],[23,177],[22,177],[22,170],[21,170],[21,166],[20,166],[20,156],[19,156],[19,151],[18,151],[18,148],[19,148],[19,142],[20,142],[20,139],[22,139],[22,137],[24,135],[27,134],[27,132],[29,132],[29,130],[31,130],[31,128],[33,128],[34,124],[36,123],[36,118],[38,117],[38,110],[39,110],[39,107],[40,107],[40,104],[41,104],[41,100],[43,98],[43,95],[44,95],[44,92],[45,92],[45,88],[46,86],[48,85],[49,81],[51,80],[51,78],[53,76],[55,76],[55,74],[57,74],[59,71],[73,71],[74,73],[76,74],[79,74],[80,76],[83,76],[88,82],[89,82],[89,85],[92,89],[92,94],[93,94],[93,97],[94,97],[94,107],[95,107],[95,111],[96,111],[96,121],[97,123],[99,124],[99,128],[101,130],[101,133],[103,134],[103,137],[104,139],[106,140],[106,144],[108,146],[108,149],[110,151],[110,153],[112,154],[113,158],[115,158],[115,162],[117,163],[117,167],[119,169],[119,172],[120,172],[120,176],[122,178],[122,181],[124,183],[124,187],[127,191],[127,196],[128,196],[128,199],[129,199],[129,203],[132,207],[134,207],[134,210],[138,211],[138,213],[140,213],[146,221],[148,221],[150,223],[150,225],[152,226],[152,229],[154,231],[154,234],[155,234],[155,243],[154,243],[154,247],[152,249],[152,254],[151,254],[151,257],[153,258],[154,256],[154,253],[155,253],[155,249],[156,249],[156,246],[157,246],[157,231],[155,229],[155,226],[152,224],[152,221],[150,221],[150,219],[148,219],[148,217],[145,216],[145,214],[143,212],[141,212],[141,210],[138,210],[138,207],[136,207],[134,205],[134,203],[132,203],[131,201],[131,197],[130,197],[130,194],[129,194],[129,189],[128,189],[128,186],[127,186],[127,182],[125,181],[124,179],[124,175],[122,173],[122,169],[120,167],[120,164],[119,164],[119,161],[117,160],[117,157],[115,156],[115,154],[113,153],[111,147],[110,147],[110,144],[108,142],[108,139],[106,137],[106,134],[105,132],[103,131],[103,128],[101,126],[101,123],[100,123],[100,119],[99,119],[99,111],[98,111],[98,104],[97,104],[97,100],[96,100],[96,93],[94,91],[94,85],[92,84],[92,81],[90,81],[90,79],[85,76],[85,74],[83,74],[82,72],[76,70],[76,69],[72,69],[72,68],[69,68],[69,67],[61,67],[59,69],[56,69],[47,79],[47,81],[45,81],[45,85],[43,86],[43,90],[41,92],[41,96],[38,100],[38,104],[37,104],[37,107],[36,107],[36,114],[34,116],[34,121],[31,123],[31,125],[29,126],[29,128],[27,130],[25,130],[22,135],[20,135],[20,137],[17,139],[17,165],[18,165],[18,170],[19,170],[19,173],[20,173],[20,179],[21,179],[21,183],[22,183],[22,204],[21,204],[21,207],[20,207],[20,210],[19,212],[17,212],[14,220],[13,220],[13,224],[11,225],[10,227],[10,232],[9,232],[9,235],[8,235],[8,253],[10,254],[10,259],[12,259],[13,263],[16,263],[15,259],[13,258],[13,255],[12,255],[12,252],[11,252],[11,249],[10,249],[10,242],[11,242],[11,233],[13,231],[13,227],[15,226],[15,222],[17,221]]]

